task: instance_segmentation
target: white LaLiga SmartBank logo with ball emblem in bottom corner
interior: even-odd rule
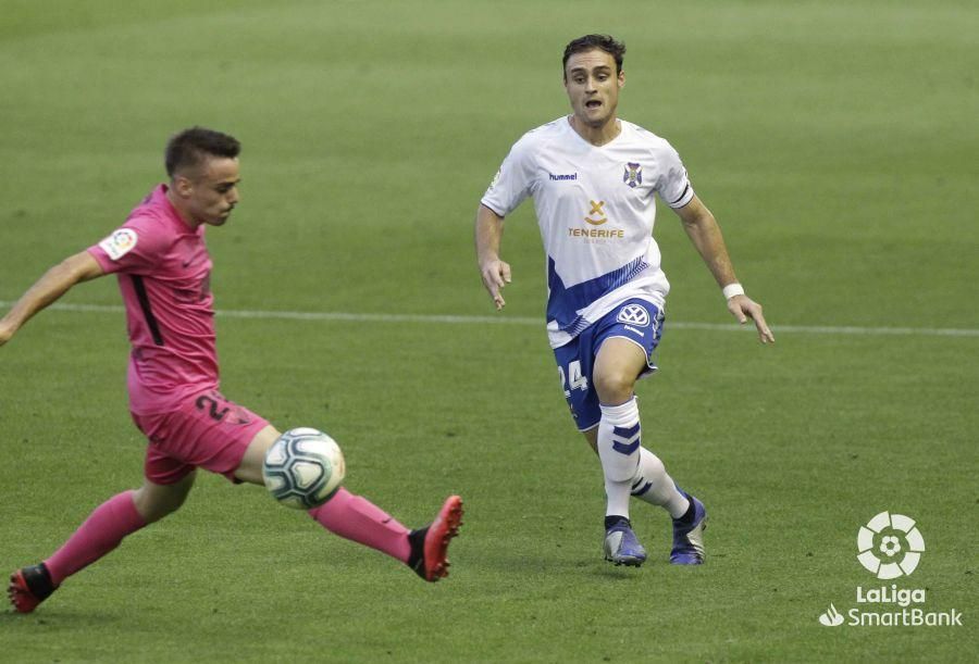
[[[915,519],[881,512],[857,531],[857,561],[878,579],[910,576],[925,552],[925,538]],[[961,627],[962,612],[926,611],[925,588],[857,586],[857,606],[844,614],[833,603],[819,616],[826,627]]]

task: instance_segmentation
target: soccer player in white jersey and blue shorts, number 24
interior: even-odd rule
[[[500,260],[504,217],[534,199],[547,253],[547,334],[565,397],[605,475],[605,557],[640,566],[646,551],[629,518],[630,496],[673,521],[670,562],[704,562],[703,503],[680,489],[642,446],[635,381],[656,369],[669,281],[653,239],[655,196],[683,222],[734,317],[752,318],[763,343],[774,337],[739,284],[720,228],[694,193],[677,151],[616,115],[623,43],[586,35],[565,49],[572,113],[528,131],[504,160],[475,221],[483,285],[497,310],[510,266]]]

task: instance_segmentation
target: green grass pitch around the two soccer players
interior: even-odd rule
[[[620,115],[683,155],[778,338],[691,325],[730,321],[661,210],[673,290],[639,394],[646,444],[710,511],[701,568],[667,564],[644,504],[650,562],[602,561],[530,203],[508,220],[506,312],[474,266],[478,200],[567,112],[561,49],[588,32],[627,42]],[[954,0],[0,0],[0,301],[117,226],[170,134],[235,134],[220,310],[462,322],[222,315],[224,391],[330,431],[348,487],[407,525],[467,505],[450,577],[425,585],[201,476],[36,613],[0,614],[0,661],[975,661],[977,34]],[[120,303],[111,278],[64,301]],[[64,309],[0,349],[0,572],[140,480],[126,349],[121,313]],[[885,510],[927,546],[894,582],[962,627],[819,624],[890,586],[856,560]]]

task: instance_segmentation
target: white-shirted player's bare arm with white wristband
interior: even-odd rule
[[[774,336],[768,328],[765,316],[761,315],[761,305],[744,295],[744,290],[738,283],[734,266],[731,264],[731,258],[728,255],[728,248],[724,245],[724,237],[710,210],[699,198],[694,196],[689,203],[676,209],[674,212],[683,222],[683,229],[701,258],[704,259],[717,285],[722,289],[735,291],[736,295],[728,298],[728,310],[738,318],[739,323],[746,323],[748,318],[754,321],[761,343],[773,343]]]

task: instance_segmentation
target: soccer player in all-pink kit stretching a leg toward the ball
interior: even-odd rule
[[[141,487],[99,505],[50,557],[11,575],[8,594],[18,612],[34,611],[124,537],[177,510],[197,467],[263,485],[262,462],[280,433],[220,392],[205,245],[205,228],[222,226],[238,203],[239,151],[235,138],[201,127],[172,137],[169,185],[153,189],[108,238],[49,270],[0,320],[3,346],[76,284],[116,274],[133,347],[129,411],[149,440]],[[436,581],[448,574],[446,554],[461,525],[462,501],[450,496],[435,521],[417,530],[344,488],[309,514]]]

